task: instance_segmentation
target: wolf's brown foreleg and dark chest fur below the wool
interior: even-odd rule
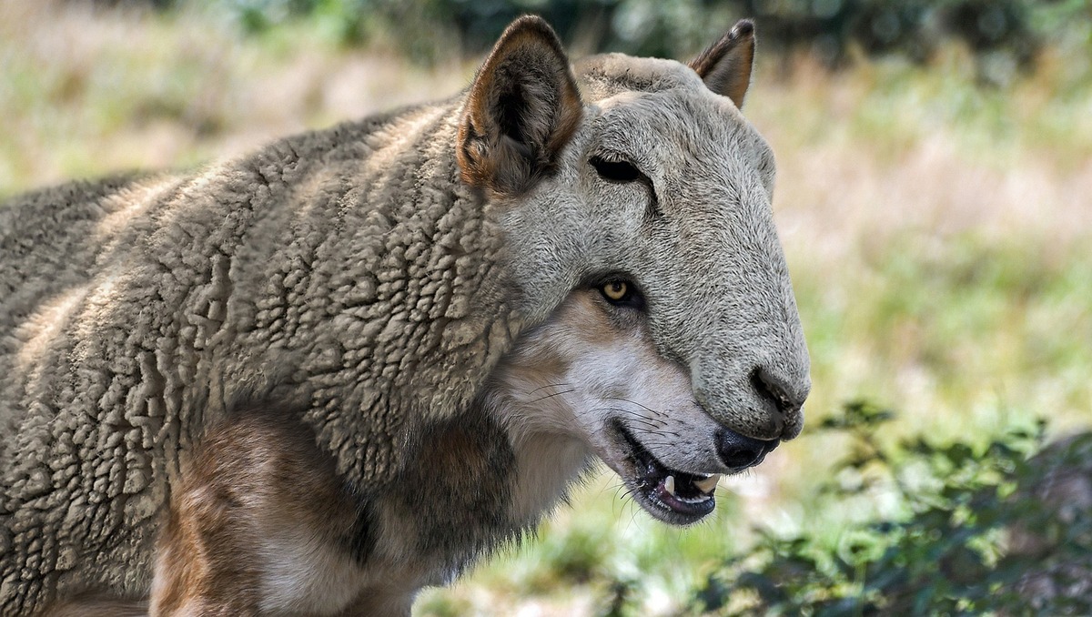
[[[185,464],[156,547],[151,614],[408,612],[418,588],[442,582],[437,570],[458,569],[465,551],[476,553],[467,547],[482,530],[512,533],[495,511],[495,491],[479,490],[483,478],[501,486],[498,472],[511,466],[490,446],[496,436],[483,441],[483,431],[474,419],[437,426],[397,480],[403,490],[366,507],[290,412],[271,405],[235,414]],[[438,470],[448,473],[436,477]],[[455,503],[492,524],[454,529]]]

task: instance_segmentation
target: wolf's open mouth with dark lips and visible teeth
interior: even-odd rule
[[[719,474],[673,470],[649,452],[620,419],[616,418],[613,424],[628,447],[627,459],[632,465],[632,476],[622,476],[622,479],[645,511],[675,525],[696,523],[713,511],[716,507],[713,490],[721,479]]]

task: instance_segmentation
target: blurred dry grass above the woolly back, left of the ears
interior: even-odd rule
[[[242,40],[198,13],[0,2],[0,195],[107,170],[189,166],[274,138],[448,96],[473,64]]]

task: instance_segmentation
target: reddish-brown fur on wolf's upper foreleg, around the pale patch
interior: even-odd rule
[[[287,414],[244,413],[186,465],[157,551],[154,614],[258,615],[262,543],[292,530],[352,536],[352,502],[313,432]]]

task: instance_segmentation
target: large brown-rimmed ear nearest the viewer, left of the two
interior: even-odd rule
[[[557,35],[541,17],[515,20],[466,95],[456,152],[463,180],[503,195],[530,189],[554,169],[582,112]]]

